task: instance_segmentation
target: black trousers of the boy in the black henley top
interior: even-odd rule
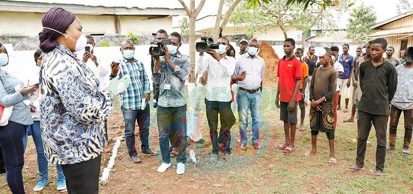
[[[357,141],[357,158],[356,164],[359,167],[364,166],[364,155],[366,153],[366,142],[373,121],[374,129],[376,129],[377,147],[376,147],[376,170],[384,171],[384,161],[386,160],[386,134],[388,115],[376,115],[359,110],[359,124]]]

